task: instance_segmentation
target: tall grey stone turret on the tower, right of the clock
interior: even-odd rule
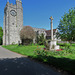
[[[22,7],[22,1],[16,0],[16,10],[17,10],[17,27],[19,30],[23,27],[23,7]]]

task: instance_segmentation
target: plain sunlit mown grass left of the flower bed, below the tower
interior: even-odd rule
[[[32,45],[32,46],[18,46],[18,45],[8,45],[8,46],[2,46],[8,50],[20,53],[22,55],[27,55],[27,56],[34,56],[34,50],[37,48],[37,46]],[[39,46],[44,48],[44,46]]]

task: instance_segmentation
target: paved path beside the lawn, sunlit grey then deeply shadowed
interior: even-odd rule
[[[51,68],[31,61],[0,46],[0,75],[61,75]]]

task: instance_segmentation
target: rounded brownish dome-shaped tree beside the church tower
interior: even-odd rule
[[[23,45],[28,45],[33,42],[33,39],[35,38],[35,32],[33,28],[30,26],[24,26],[20,31],[20,38]]]

